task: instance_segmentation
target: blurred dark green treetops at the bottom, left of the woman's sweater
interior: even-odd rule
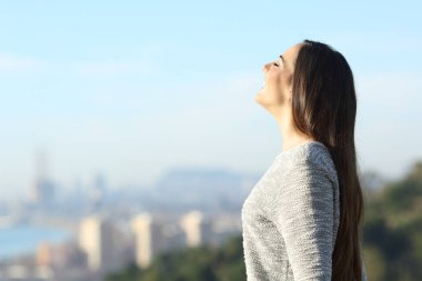
[[[230,238],[221,248],[198,247],[165,253],[141,270],[130,264],[107,281],[233,281],[245,280],[242,238]]]

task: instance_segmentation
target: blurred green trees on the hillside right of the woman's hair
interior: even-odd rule
[[[372,194],[365,207],[368,279],[422,280],[422,162]]]

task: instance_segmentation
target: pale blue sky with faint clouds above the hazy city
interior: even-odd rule
[[[9,1],[0,8],[0,190],[44,149],[64,189],[150,185],[172,167],[264,171],[280,152],[253,98],[262,64],[312,39],[348,59],[362,170],[422,159],[418,1]]]

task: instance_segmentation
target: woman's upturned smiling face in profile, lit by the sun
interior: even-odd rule
[[[301,47],[301,43],[295,44],[274,61],[263,66],[265,83],[255,96],[255,101],[270,112],[278,112],[281,108],[291,106],[291,80]]]

